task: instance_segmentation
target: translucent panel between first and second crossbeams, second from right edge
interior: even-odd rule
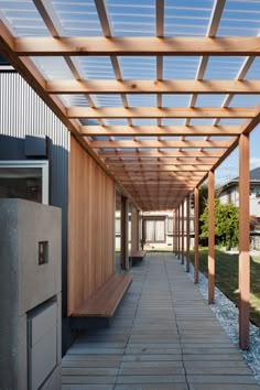
[[[209,57],[205,72],[205,79],[232,79],[237,76],[243,57]]]

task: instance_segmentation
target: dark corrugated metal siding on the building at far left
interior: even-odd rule
[[[0,73],[0,160],[25,159],[25,134],[44,134],[51,139],[50,195],[51,204],[63,209],[63,290],[66,292],[69,133],[20,75]]]

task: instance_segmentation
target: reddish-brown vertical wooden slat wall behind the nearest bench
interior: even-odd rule
[[[72,137],[68,315],[113,273],[115,183]]]

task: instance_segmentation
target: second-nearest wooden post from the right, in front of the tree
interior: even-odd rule
[[[208,172],[208,303],[215,300],[215,224],[214,224],[215,185],[214,171]]]

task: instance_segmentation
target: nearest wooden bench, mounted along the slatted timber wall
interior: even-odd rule
[[[112,317],[131,282],[130,273],[115,273],[82,303],[73,317]]]

